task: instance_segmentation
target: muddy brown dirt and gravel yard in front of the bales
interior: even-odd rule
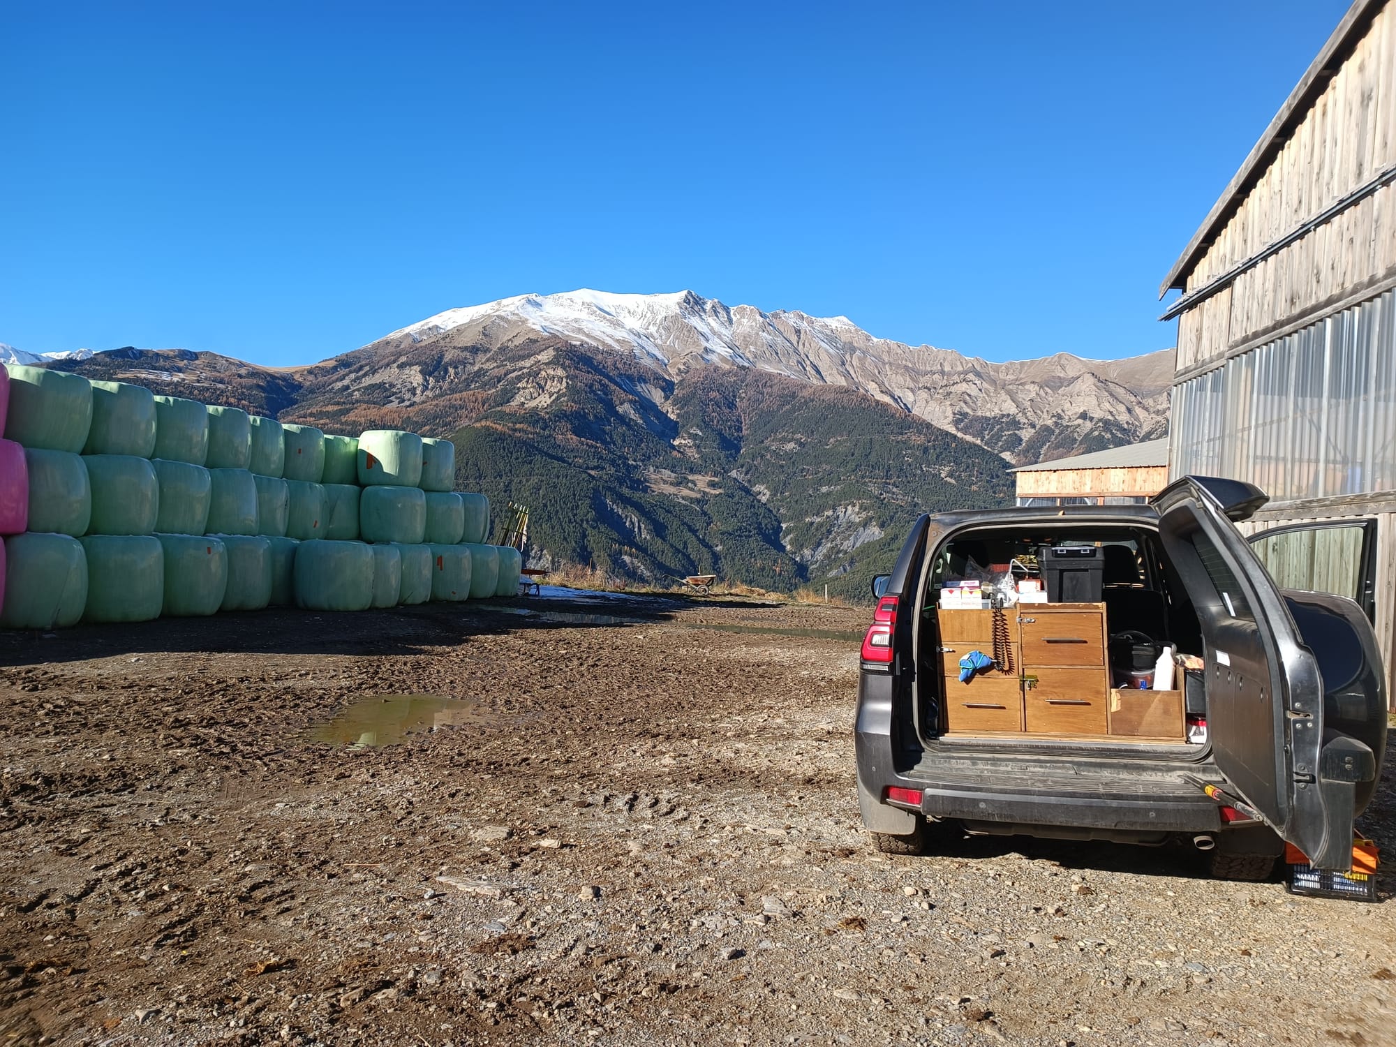
[[[1184,849],[877,854],[864,614],[533,599],[0,637],[0,1044],[1396,1043],[1385,877],[1364,906]],[[378,699],[408,694],[466,701]],[[377,715],[350,741],[437,726],[317,740],[346,709]],[[1388,779],[1388,854],[1393,811]]]

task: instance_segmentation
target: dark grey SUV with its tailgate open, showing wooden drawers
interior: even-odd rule
[[[1369,606],[1280,589],[1235,526],[1265,501],[1185,477],[1149,505],[921,517],[863,644],[878,847],[1181,836],[1222,877],[1270,875],[1286,842],[1350,870],[1386,748]]]

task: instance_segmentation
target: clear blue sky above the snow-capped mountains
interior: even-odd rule
[[[1346,8],[8,4],[0,342],[285,366],[591,286],[1148,352]]]

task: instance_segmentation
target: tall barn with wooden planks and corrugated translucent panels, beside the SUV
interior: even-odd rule
[[[1272,574],[1362,603],[1396,695],[1396,0],[1349,8],[1168,290],[1171,475],[1259,484]]]

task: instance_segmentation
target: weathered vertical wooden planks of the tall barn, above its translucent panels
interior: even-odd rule
[[[1209,283],[1396,165],[1396,3],[1353,54],[1188,276]],[[1178,371],[1220,360],[1344,290],[1396,276],[1396,184],[1241,274],[1178,321]]]

